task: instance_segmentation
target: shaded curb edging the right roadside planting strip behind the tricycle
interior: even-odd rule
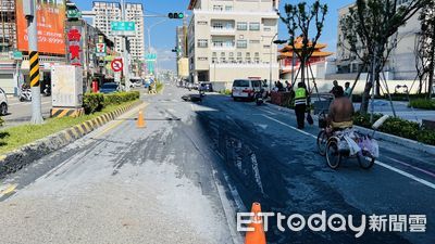
[[[290,112],[290,113],[295,114],[295,111],[293,111],[290,108],[287,108],[287,107],[283,107],[283,106],[279,106],[279,105],[276,105],[276,104],[272,104],[272,103],[268,103],[268,105],[270,105],[272,107],[275,107],[278,111],[287,111],[287,112]],[[318,121],[318,119],[315,117],[313,117],[313,118],[314,118],[314,121]],[[360,130],[361,132],[369,133],[369,134],[373,133],[373,130],[371,130],[371,129],[368,129],[368,128],[364,128],[364,127],[360,127],[360,126],[355,126],[355,127],[358,130]],[[412,149],[412,150],[417,150],[417,151],[420,151],[420,152],[423,152],[423,153],[428,153],[431,155],[435,155],[435,146],[427,145],[427,144],[424,144],[424,143],[421,143],[421,142],[418,142],[418,141],[414,141],[414,140],[410,140],[410,139],[407,139],[407,138],[400,138],[400,137],[397,137],[397,136],[394,136],[394,134],[389,134],[389,133],[384,133],[384,132],[381,132],[381,131],[376,131],[375,134],[374,134],[374,138],[376,140],[390,142],[390,143],[394,143],[394,144],[406,146],[408,149]]]

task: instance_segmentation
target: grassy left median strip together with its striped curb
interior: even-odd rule
[[[25,125],[1,130],[0,178],[74,142],[140,104],[141,101],[133,101],[78,118],[50,119],[41,126]],[[20,138],[11,137],[13,131],[20,130],[28,131],[27,137],[23,138],[23,141],[27,142],[24,145],[18,144]],[[9,137],[12,140],[10,144],[5,141]]]

